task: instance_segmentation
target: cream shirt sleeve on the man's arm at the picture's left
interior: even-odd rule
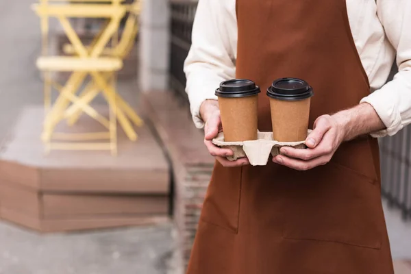
[[[192,45],[184,62],[186,92],[192,119],[198,128],[204,127],[200,116],[201,103],[217,99],[214,92],[219,84],[234,78],[236,74],[229,33],[233,29],[227,23],[233,12],[227,10],[226,3],[221,0],[199,0],[192,27]]]

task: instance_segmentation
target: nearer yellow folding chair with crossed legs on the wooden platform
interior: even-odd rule
[[[74,0],[78,1],[78,0]],[[101,0],[98,0],[101,2]],[[105,0],[102,0],[103,2]],[[129,138],[136,140],[136,133],[122,110],[116,108],[116,90],[114,86],[106,79],[104,73],[114,75],[123,66],[121,58],[101,56],[110,39],[114,36],[121,18],[125,15],[126,8],[120,4],[121,0],[113,0],[110,3],[75,3],[75,4],[51,4],[51,0],[41,0],[40,4],[34,5],[34,10],[41,18],[42,30],[42,57],[38,58],[38,68],[45,72],[45,124],[42,134],[42,140],[47,145],[47,151],[51,149],[79,149],[79,150],[110,150],[113,155],[116,154],[116,117],[119,119],[123,128],[127,129],[126,133]],[[72,1],[73,2],[73,1]],[[88,0],[88,2],[97,2],[97,0]],[[48,34],[49,18],[54,16],[58,18],[64,32],[71,41],[77,56],[48,56]],[[69,17],[92,17],[108,18],[109,23],[101,32],[96,40],[95,45],[86,49],[82,45],[79,36],[75,33],[68,20]],[[69,71],[71,76],[64,86],[51,80],[51,71]],[[106,119],[99,114],[94,108],[87,103],[80,101],[76,96],[86,77],[90,75],[93,82],[99,87],[105,99],[110,105],[110,119]],[[60,92],[58,99],[51,105],[51,88]],[[76,105],[82,112],[99,121],[108,132],[94,132],[85,134],[59,134],[55,132],[55,126],[62,119],[69,118],[66,108],[69,105]],[[53,140],[53,141],[52,141]],[[55,142],[55,141],[56,142]],[[92,142],[97,140],[108,140],[108,142]],[[65,141],[65,142],[57,142]],[[71,141],[71,142],[69,142]]]

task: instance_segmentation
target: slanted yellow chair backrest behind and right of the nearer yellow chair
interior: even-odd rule
[[[114,47],[112,55],[124,59],[134,47],[134,41],[138,34],[138,18],[141,11],[140,0],[135,0],[129,7],[129,15],[125,21],[123,34],[119,41],[119,44]]]

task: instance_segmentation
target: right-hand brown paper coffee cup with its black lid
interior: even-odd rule
[[[282,78],[267,90],[270,98],[273,138],[279,142],[306,140],[312,87],[297,78]]]

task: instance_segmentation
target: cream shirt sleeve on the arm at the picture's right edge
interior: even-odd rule
[[[411,1],[379,0],[377,14],[386,36],[397,51],[399,73],[393,81],[362,99],[379,115],[386,129],[373,137],[393,136],[411,123]]]

